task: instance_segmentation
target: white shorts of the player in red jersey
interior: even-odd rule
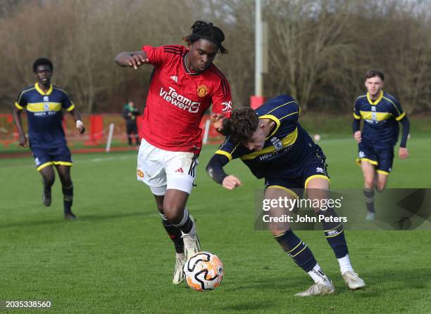
[[[190,194],[198,164],[198,155],[192,152],[162,150],[143,138],[137,157],[137,179],[148,185],[154,195],[165,195],[169,189]]]

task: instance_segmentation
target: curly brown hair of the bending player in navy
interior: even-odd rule
[[[224,125],[224,127],[228,129],[227,133],[232,136],[232,140],[236,143],[248,142],[259,124],[256,112],[247,107],[235,109],[228,121],[228,126]]]

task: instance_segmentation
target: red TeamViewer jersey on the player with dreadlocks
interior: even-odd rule
[[[230,117],[229,82],[215,65],[200,74],[187,71],[184,46],[142,46],[142,51],[154,65],[142,122],[145,140],[163,150],[199,154],[199,124],[208,107]]]

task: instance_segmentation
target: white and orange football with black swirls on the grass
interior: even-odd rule
[[[225,275],[220,259],[207,251],[191,256],[184,265],[185,280],[196,291],[213,290],[220,285]]]

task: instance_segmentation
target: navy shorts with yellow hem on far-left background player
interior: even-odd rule
[[[32,154],[35,158],[37,171],[54,164],[73,165],[70,150],[66,145],[57,148],[32,148]]]

